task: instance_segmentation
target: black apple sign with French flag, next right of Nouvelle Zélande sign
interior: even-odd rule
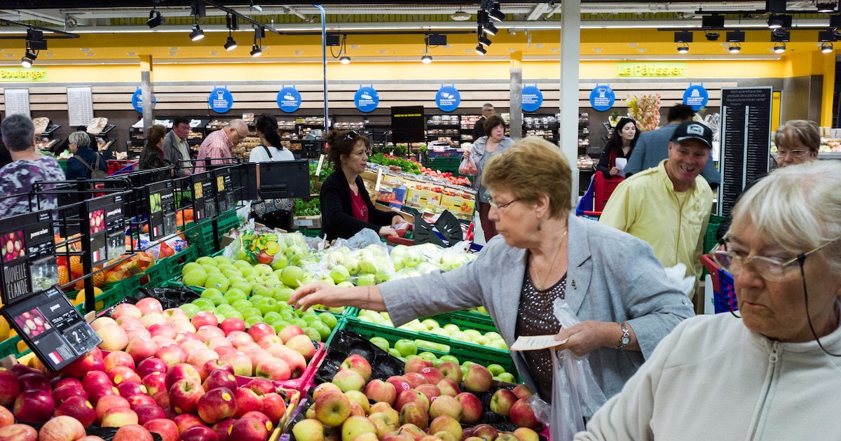
[[[102,264],[125,253],[125,201],[122,194],[91,199],[82,204],[82,231],[90,240],[82,250],[90,256],[91,266]]]

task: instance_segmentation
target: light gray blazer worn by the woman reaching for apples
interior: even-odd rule
[[[395,326],[413,318],[484,305],[507,344],[513,344],[526,274],[526,249],[492,239],[472,264],[448,272],[389,281],[379,286]],[[643,240],[615,228],[569,216],[566,300],[581,321],[627,322],[642,353],[612,348],[589,355],[596,381],[610,397],[680,321],[694,315],[686,295],[667,281]],[[616,335],[616,346],[621,334]],[[523,382],[537,391],[525,362],[513,359]]]

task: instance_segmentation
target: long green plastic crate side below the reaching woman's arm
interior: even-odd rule
[[[456,357],[459,361],[473,361],[479,365],[497,364],[505,368],[506,371],[513,375],[516,374],[516,367],[514,360],[508,351],[479,346],[478,344],[468,344],[453,340],[442,335],[434,333],[415,333],[406,331],[404,329],[389,328],[387,326],[380,326],[373,323],[362,322],[358,318],[345,318],[345,329],[349,329],[363,337],[370,339],[372,337],[382,337],[389,341],[389,344],[394,345],[399,339],[421,340],[418,346],[418,351],[429,350],[429,352],[437,356],[450,354]],[[336,326],[338,328],[338,326]],[[430,342],[439,345],[438,348],[426,347],[422,342]],[[441,347],[440,345],[445,345]]]

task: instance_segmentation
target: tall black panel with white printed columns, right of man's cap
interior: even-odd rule
[[[722,185],[718,214],[733,209],[745,185],[768,173],[771,144],[771,87],[722,89]]]

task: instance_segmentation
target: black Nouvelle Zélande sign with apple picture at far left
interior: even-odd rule
[[[19,302],[58,283],[52,213],[0,219],[0,290],[3,303]]]

